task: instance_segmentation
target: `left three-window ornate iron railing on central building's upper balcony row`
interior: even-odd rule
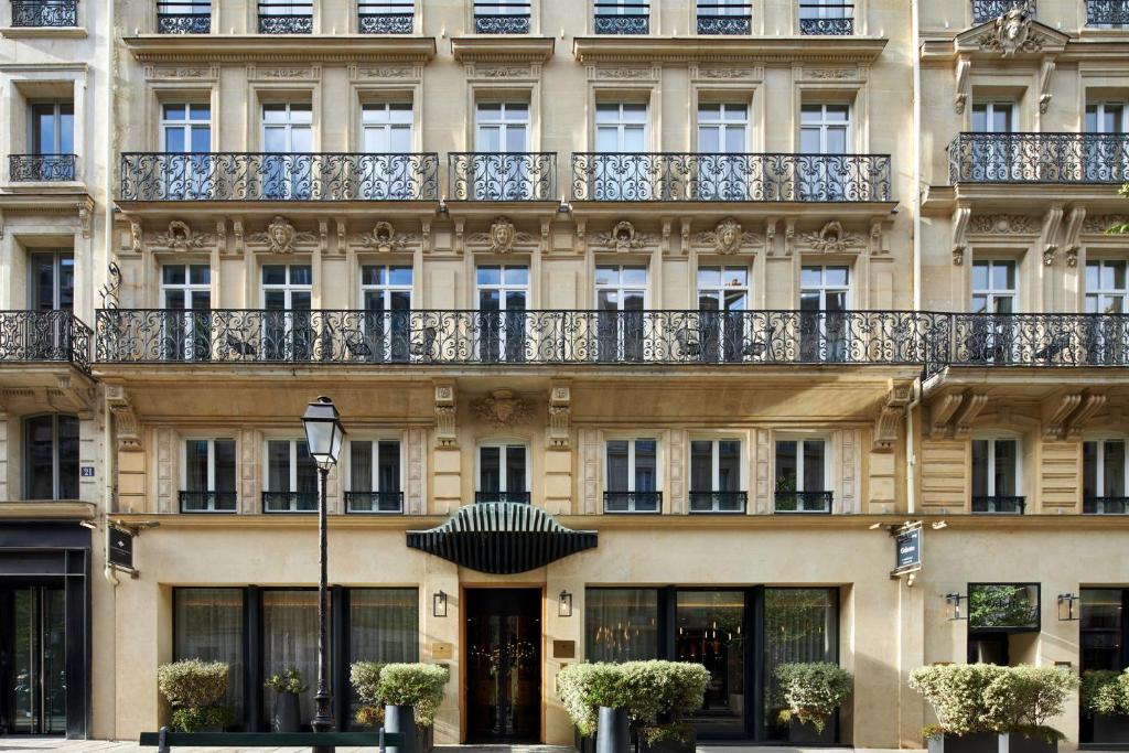
[[[435,154],[126,152],[120,201],[438,201]]]

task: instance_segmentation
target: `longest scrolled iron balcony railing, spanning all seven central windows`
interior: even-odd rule
[[[106,309],[105,364],[944,364],[949,318],[913,312]],[[936,367],[939,369],[939,366]]]

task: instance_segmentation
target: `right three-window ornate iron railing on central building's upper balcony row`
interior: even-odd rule
[[[576,201],[890,201],[889,155],[576,152]]]

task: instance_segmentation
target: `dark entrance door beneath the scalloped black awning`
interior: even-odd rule
[[[541,741],[541,590],[466,590],[467,742]]]

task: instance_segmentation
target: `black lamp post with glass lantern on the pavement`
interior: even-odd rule
[[[338,463],[341,454],[341,445],[344,441],[345,430],[341,426],[341,417],[333,401],[322,396],[306,406],[306,412],[301,417],[301,422],[306,424],[306,447],[310,457],[317,463],[321,475],[322,489],[320,504],[317,506],[317,534],[320,540],[318,561],[321,564],[321,576],[317,581],[317,692],[314,694],[316,713],[314,715],[314,732],[330,732],[333,729],[333,712],[331,704],[333,694],[330,692],[330,662],[326,656],[329,643],[325,640],[325,622],[329,613],[329,569],[326,568],[326,504],[325,487],[330,476],[330,469]],[[329,753],[331,746],[318,746],[315,753]]]

